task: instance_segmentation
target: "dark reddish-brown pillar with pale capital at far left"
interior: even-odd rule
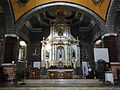
[[[4,47],[4,61],[3,63],[16,62],[17,59],[17,39],[16,34],[5,35],[5,47]]]

